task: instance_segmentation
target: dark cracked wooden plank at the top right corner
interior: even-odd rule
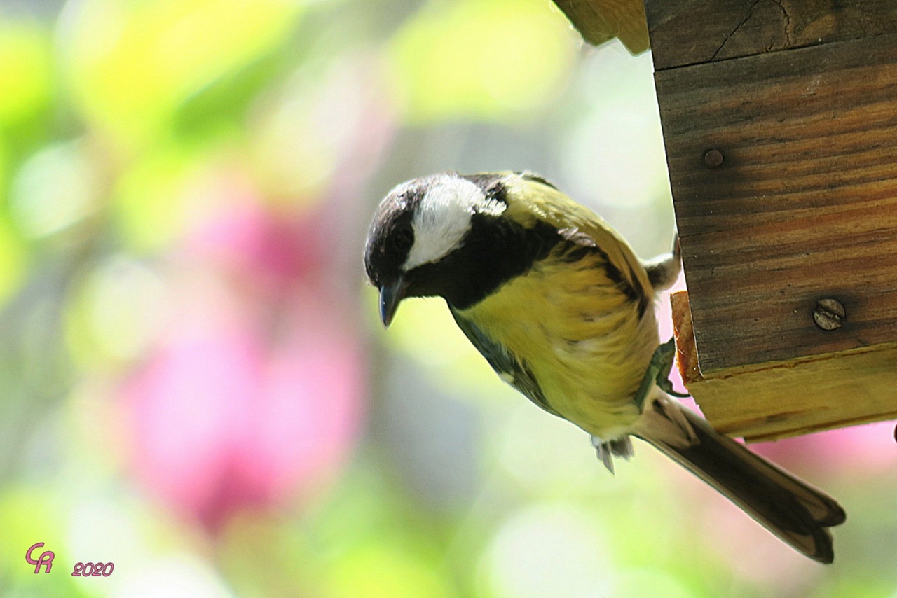
[[[654,67],[897,32],[893,0],[645,0]]]

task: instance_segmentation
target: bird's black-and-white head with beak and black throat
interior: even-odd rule
[[[396,186],[374,213],[364,252],[370,282],[380,291],[380,318],[389,325],[406,297],[445,298],[464,309],[544,256],[557,231],[524,228],[507,218],[514,173],[456,173]]]

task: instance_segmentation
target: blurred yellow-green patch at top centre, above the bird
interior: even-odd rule
[[[556,97],[576,42],[545,8],[464,0],[432,4],[409,19],[391,41],[396,93],[409,120],[513,121]]]

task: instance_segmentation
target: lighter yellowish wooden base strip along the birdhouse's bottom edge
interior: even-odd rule
[[[704,378],[688,293],[670,300],[685,386],[720,432],[755,442],[897,418],[897,344]]]

